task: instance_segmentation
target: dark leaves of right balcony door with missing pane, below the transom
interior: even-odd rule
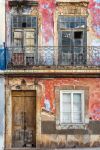
[[[62,48],[59,59],[62,59],[62,64],[83,65],[85,60],[84,51],[86,51],[84,46],[84,30],[61,31],[61,33]]]

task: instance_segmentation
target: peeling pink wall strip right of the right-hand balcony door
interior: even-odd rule
[[[100,0],[89,0],[88,10],[91,34],[90,44],[100,47]],[[97,49],[98,51],[100,51],[99,47]],[[96,51],[94,51],[94,54]]]

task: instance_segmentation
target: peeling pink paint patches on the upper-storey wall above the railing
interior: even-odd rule
[[[8,1],[6,0],[6,11],[9,11]],[[53,46],[54,42],[54,11],[56,0],[35,0],[39,2],[39,11],[42,15],[42,44],[45,46]],[[96,35],[98,45],[100,38],[100,0],[89,0],[89,14],[92,17],[91,25]],[[96,46],[94,42],[94,46]]]

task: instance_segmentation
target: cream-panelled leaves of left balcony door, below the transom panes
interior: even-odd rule
[[[36,34],[34,29],[14,29],[13,65],[34,65]]]

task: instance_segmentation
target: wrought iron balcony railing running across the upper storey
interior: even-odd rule
[[[100,66],[100,47],[7,47],[7,69],[34,66]]]

